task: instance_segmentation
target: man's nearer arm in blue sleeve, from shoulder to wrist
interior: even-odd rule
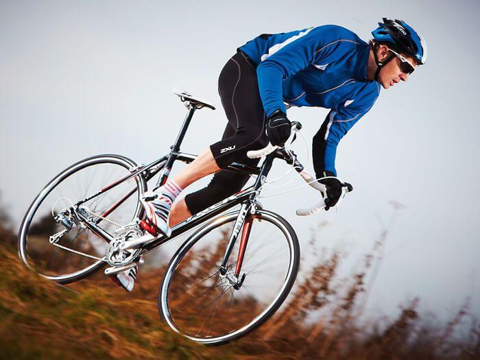
[[[307,32],[300,36],[302,33]],[[346,39],[347,41],[337,41]],[[275,110],[286,113],[283,104],[283,80],[309,64],[323,64],[341,58],[351,51],[355,38],[351,32],[335,25],[305,29],[283,47],[272,47],[256,69],[259,91],[267,117]],[[275,51],[276,50],[276,51]]]

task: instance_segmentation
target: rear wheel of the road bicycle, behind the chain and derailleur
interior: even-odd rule
[[[85,193],[93,194],[112,181],[127,175],[130,173],[129,169],[134,166],[135,164],[126,158],[101,156],[82,160],[56,176],[40,191],[23,220],[19,232],[19,252],[23,262],[41,276],[60,283],[67,283],[69,280],[95,272],[103,267],[104,261],[84,258],[84,256],[56,248],[49,243],[51,232],[64,228],[53,220],[49,207],[53,206],[60,197],[68,197],[75,203],[84,198]],[[105,171],[99,171],[100,167]],[[82,183],[82,180],[86,180],[86,185],[85,181]],[[122,225],[128,224],[141,213],[138,197],[146,189],[145,181],[141,178],[132,178],[108,191],[105,195],[86,202],[85,205],[89,206],[94,213],[101,213],[104,208],[109,206],[109,201],[115,199],[116,196],[118,198],[117,194],[119,193],[125,194],[127,188],[135,188],[136,192],[107,218],[121,221]],[[59,211],[57,207],[61,209],[62,206],[68,206],[65,204],[68,203],[67,200],[62,200],[62,202],[64,204],[57,203],[54,210]],[[94,217],[94,215],[91,216]],[[105,227],[112,232],[114,227],[112,224],[106,221],[102,221],[102,223],[106,224]],[[102,225],[102,227],[104,226]],[[98,237],[94,237],[88,229],[73,229],[62,237],[59,243],[98,258],[104,256],[106,249],[106,243]],[[68,265],[62,265],[67,263]]]

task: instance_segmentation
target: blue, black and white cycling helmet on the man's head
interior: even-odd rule
[[[427,43],[403,20],[383,18],[372,35],[379,43],[393,44],[397,51],[415,58],[420,65],[427,62]]]

